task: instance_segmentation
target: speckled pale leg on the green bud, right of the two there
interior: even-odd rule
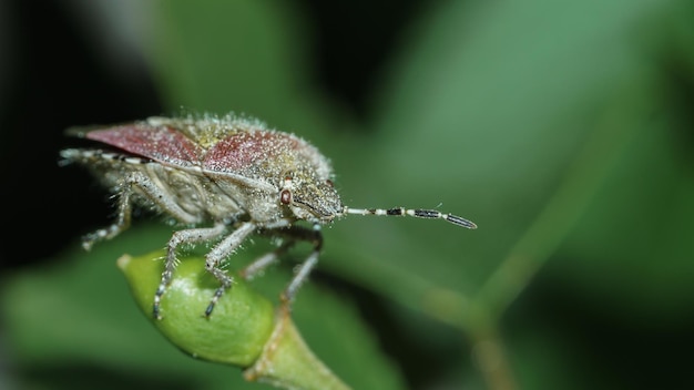
[[[210,317],[214,306],[217,304],[217,300],[220,300],[220,297],[222,297],[227,288],[232,287],[232,277],[228,276],[224,269],[220,268],[220,264],[222,264],[222,261],[231,255],[232,252],[234,252],[234,249],[236,249],[255,229],[255,224],[249,222],[241,224],[236,230],[226,236],[205,256],[205,269],[214,275],[214,277],[222,284],[222,286],[220,286],[220,288],[217,288],[214,292],[212,300],[210,300],[210,305],[207,306],[207,309],[205,309],[205,317]]]

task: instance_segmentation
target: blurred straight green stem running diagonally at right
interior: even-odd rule
[[[640,109],[647,98],[643,92],[631,99],[620,98],[616,106],[608,107],[545,207],[473,298],[493,319],[506,311],[561,245],[625,148],[629,135],[642,125],[643,112],[647,111]]]

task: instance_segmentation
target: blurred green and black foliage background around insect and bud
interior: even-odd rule
[[[115,259],[169,226],[79,244],[112,202],[63,130],[182,107],[309,140],[350,206],[479,225],[325,229],[295,317],[355,389],[694,387],[691,1],[4,1],[0,55],[2,389],[269,389],[136,309]]]

